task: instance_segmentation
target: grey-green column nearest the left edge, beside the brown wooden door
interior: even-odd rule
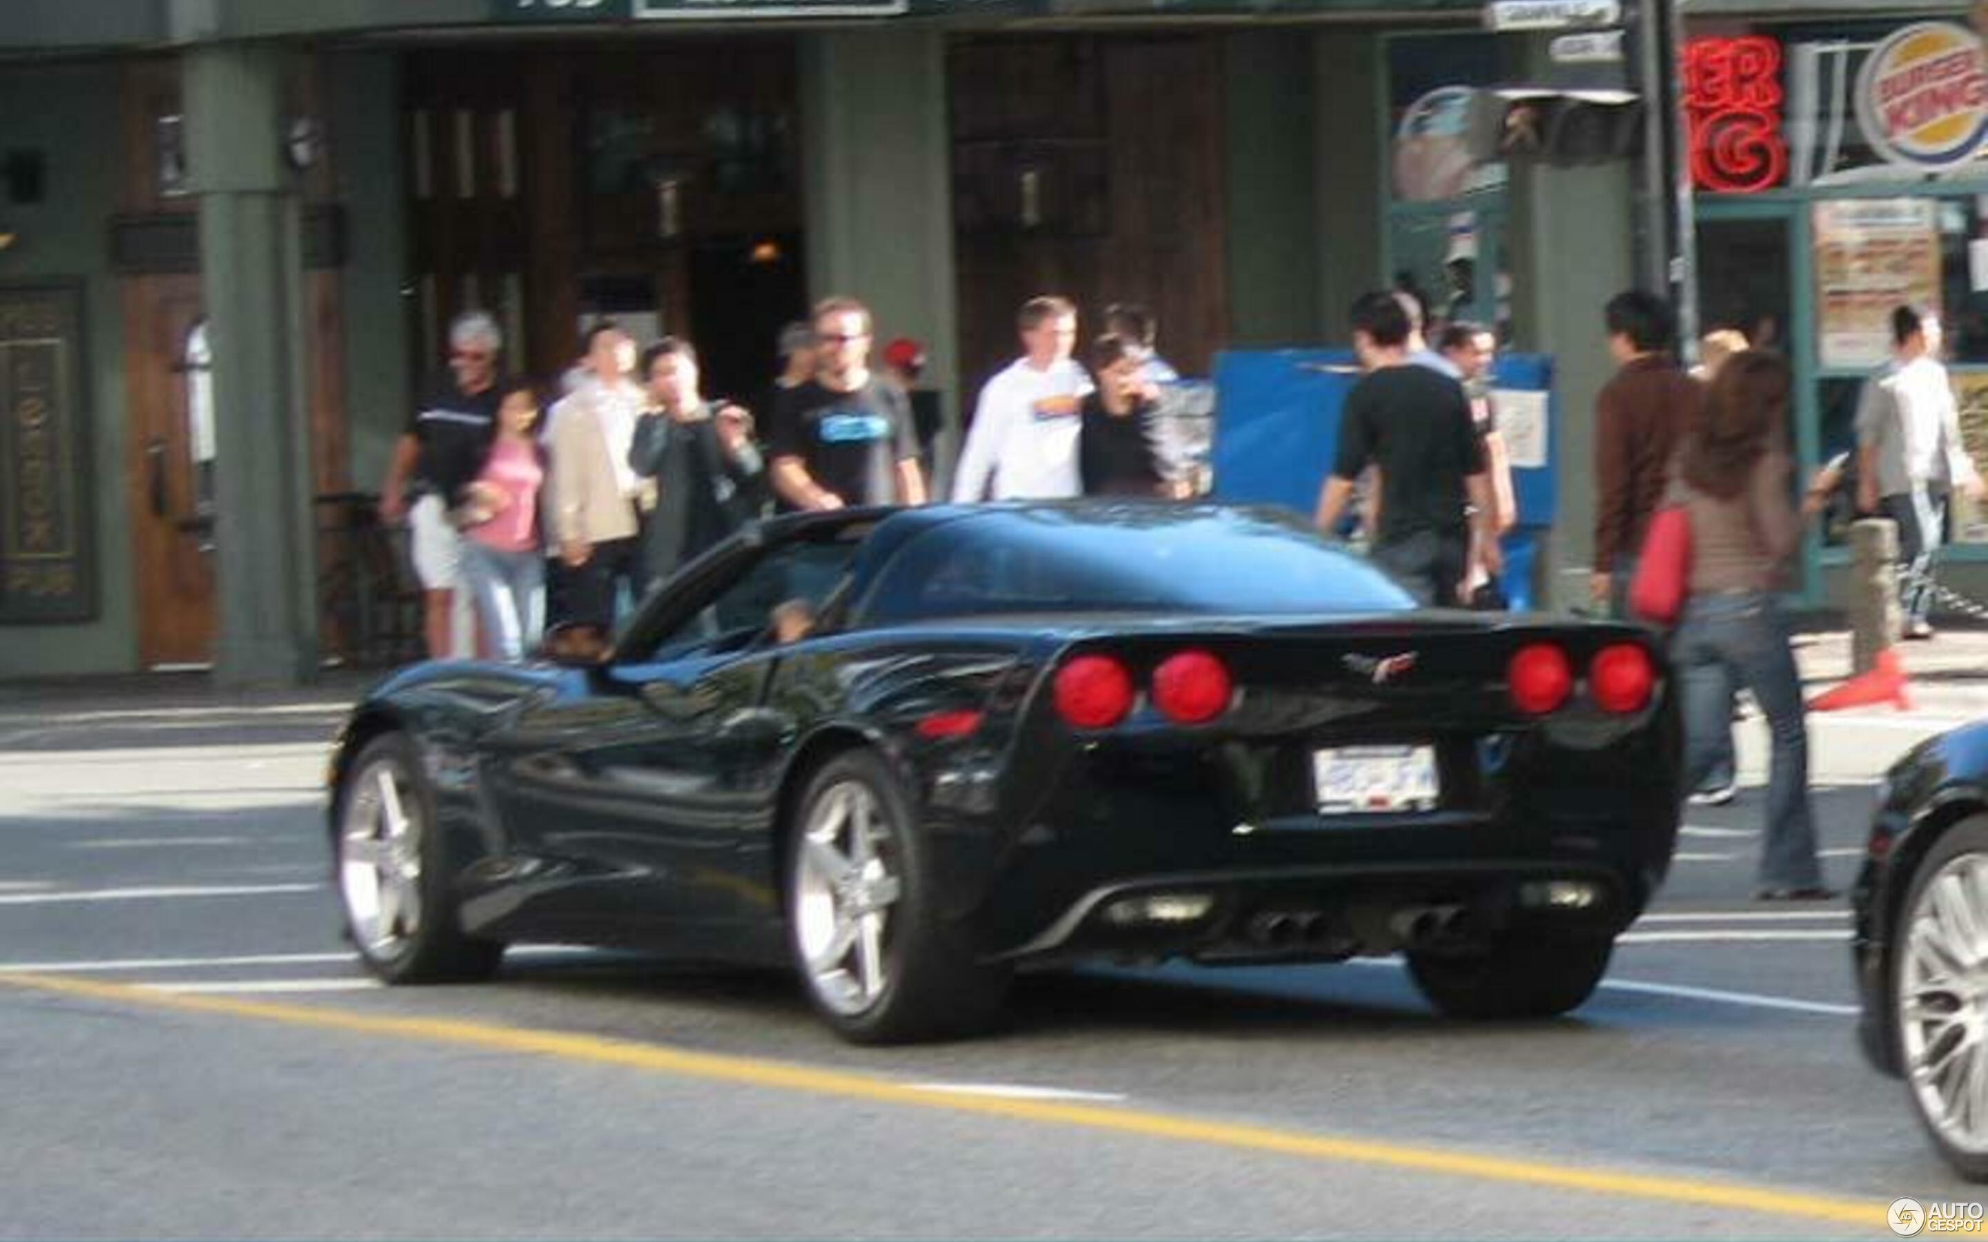
[[[296,686],[318,668],[304,256],[282,161],[282,68],[268,46],[199,44],[185,56],[187,167],[215,350],[223,686]]]

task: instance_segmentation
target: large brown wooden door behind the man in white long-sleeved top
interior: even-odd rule
[[[1085,342],[1107,304],[1141,302],[1159,352],[1205,376],[1229,328],[1221,42],[962,38],[948,91],[968,391],[1016,356],[1038,294],[1074,298]]]

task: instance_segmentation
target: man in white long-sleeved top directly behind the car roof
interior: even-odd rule
[[[1077,308],[1068,298],[1022,306],[1022,358],[980,389],[966,431],[952,501],[1064,499],[1083,495],[1077,477],[1079,407],[1091,378],[1072,362]]]

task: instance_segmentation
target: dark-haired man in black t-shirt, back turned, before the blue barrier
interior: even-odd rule
[[[1346,395],[1340,445],[1318,495],[1318,527],[1334,531],[1354,479],[1380,469],[1374,560],[1421,604],[1453,606],[1467,568],[1471,525],[1485,566],[1503,570],[1491,535],[1491,479],[1463,386],[1408,358],[1409,322],[1392,294],[1354,302],[1354,350],[1366,378]]]

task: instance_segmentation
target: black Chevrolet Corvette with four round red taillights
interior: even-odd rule
[[[1417,612],[1280,511],[785,517],[596,664],[380,686],[330,837],[390,982],[515,940],[793,962],[895,1041],[1018,966],[1400,950],[1443,1011],[1547,1015],[1670,864],[1666,674],[1632,626]]]

